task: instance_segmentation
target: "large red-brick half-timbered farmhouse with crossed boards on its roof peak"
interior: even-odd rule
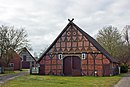
[[[110,54],[73,20],[38,60],[40,74],[110,76],[117,65]]]

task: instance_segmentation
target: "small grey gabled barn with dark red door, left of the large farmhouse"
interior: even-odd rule
[[[22,68],[23,69],[30,69],[31,67],[35,66],[36,60],[31,55],[31,53],[27,50],[26,47],[22,49],[19,53],[20,57],[22,58]]]

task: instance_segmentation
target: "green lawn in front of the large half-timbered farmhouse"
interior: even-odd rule
[[[27,75],[18,77],[2,87],[112,87],[121,76],[112,77],[64,77]]]

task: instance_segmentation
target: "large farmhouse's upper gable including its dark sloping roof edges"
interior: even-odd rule
[[[43,53],[38,62],[46,54],[55,53],[102,53],[111,62],[116,62],[109,53],[90,35],[70,22],[59,34],[50,47]]]

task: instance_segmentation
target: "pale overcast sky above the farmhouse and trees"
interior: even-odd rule
[[[0,0],[0,25],[25,27],[33,52],[50,45],[68,23],[95,37],[113,25],[130,24],[130,0]]]

